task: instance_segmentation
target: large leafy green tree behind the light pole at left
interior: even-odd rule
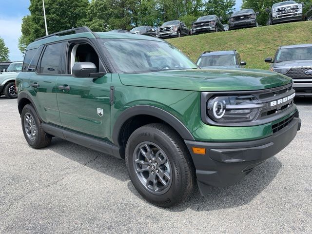
[[[49,34],[83,26],[89,5],[88,0],[45,0]],[[22,20],[19,48],[23,53],[35,39],[45,36],[42,0],[30,0],[30,15]]]

